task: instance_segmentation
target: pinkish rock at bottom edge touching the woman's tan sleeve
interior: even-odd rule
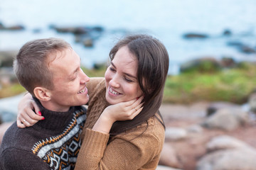
[[[181,162],[178,159],[175,149],[166,143],[164,144],[163,150],[161,152],[159,164],[164,166],[171,166],[172,168],[182,168]]]

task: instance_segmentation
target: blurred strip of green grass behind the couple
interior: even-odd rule
[[[89,77],[104,77],[107,67],[82,68]],[[164,89],[164,103],[192,103],[195,101],[230,101],[245,103],[256,87],[256,66],[240,64],[234,69],[217,72],[186,72],[169,76]],[[5,86],[0,98],[25,91],[19,84]]]

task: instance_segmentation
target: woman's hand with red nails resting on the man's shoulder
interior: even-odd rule
[[[33,111],[35,110],[35,111]],[[41,111],[33,101],[31,94],[26,94],[21,98],[18,103],[18,116],[17,116],[17,126],[18,128],[26,128],[35,125],[38,120],[43,120],[44,117],[41,116]]]

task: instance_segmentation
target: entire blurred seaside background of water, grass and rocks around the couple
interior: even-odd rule
[[[12,64],[25,42],[63,38],[95,72],[114,40],[148,33],[170,55],[157,170],[256,170],[255,7],[254,0],[1,2],[0,143],[24,93]]]

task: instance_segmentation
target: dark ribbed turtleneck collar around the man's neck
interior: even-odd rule
[[[41,128],[49,130],[63,129],[68,125],[68,123],[70,123],[70,119],[73,118],[75,107],[70,107],[67,112],[49,111],[47,108],[42,106],[41,102],[37,98],[33,98],[33,100],[36,101],[36,104],[45,118],[44,120],[40,120],[36,123],[36,125]]]

